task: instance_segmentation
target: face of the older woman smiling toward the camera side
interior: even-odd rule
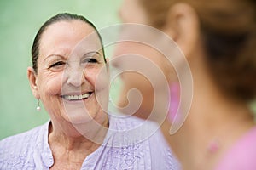
[[[100,39],[89,24],[59,21],[46,28],[39,42],[36,85],[52,121],[104,121],[108,71]]]

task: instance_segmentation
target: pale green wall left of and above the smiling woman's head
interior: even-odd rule
[[[26,68],[39,27],[51,16],[82,14],[98,29],[119,23],[120,0],[2,0],[0,1],[0,139],[24,132],[49,119],[36,111]],[[108,52],[107,52],[108,54]]]

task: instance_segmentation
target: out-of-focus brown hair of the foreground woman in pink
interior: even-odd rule
[[[256,96],[256,2],[254,0],[139,0],[150,25],[161,29],[169,8],[187,3],[201,25],[207,65],[218,86],[244,102]]]

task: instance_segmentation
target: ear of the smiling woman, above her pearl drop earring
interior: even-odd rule
[[[40,96],[38,93],[38,84],[37,84],[38,77],[32,67],[27,68],[27,77],[30,83],[30,88],[32,89],[32,94],[36,99],[40,99]]]

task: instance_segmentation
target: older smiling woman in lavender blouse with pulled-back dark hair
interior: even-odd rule
[[[67,13],[47,20],[27,75],[50,121],[3,139],[0,169],[177,169],[154,123],[108,114],[106,63],[90,21]]]

